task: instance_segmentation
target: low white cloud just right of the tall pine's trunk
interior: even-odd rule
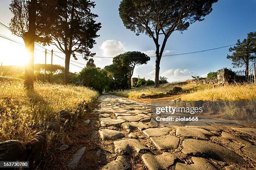
[[[181,70],[177,68],[177,69],[165,70],[164,73],[161,75],[164,77],[167,77],[169,82],[174,82],[174,81],[183,81],[183,80],[191,79],[191,76],[193,74],[194,72],[191,70],[188,70],[188,69]]]

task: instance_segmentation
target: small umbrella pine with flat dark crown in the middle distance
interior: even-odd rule
[[[128,88],[131,88],[131,78],[133,76],[133,70],[136,65],[147,64],[150,60],[146,54],[139,51],[125,52],[123,54],[117,55],[113,58],[113,63],[116,65],[122,65],[129,70],[129,84]]]

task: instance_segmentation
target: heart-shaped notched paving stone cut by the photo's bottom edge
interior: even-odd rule
[[[174,164],[174,160],[176,159],[175,155],[167,152],[158,156],[154,156],[152,153],[147,152],[143,154],[141,158],[148,170],[166,170]]]

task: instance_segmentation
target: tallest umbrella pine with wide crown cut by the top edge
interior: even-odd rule
[[[218,0],[122,0],[119,15],[125,27],[136,35],[146,33],[156,45],[155,86],[159,87],[160,60],[167,39],[175,30],[186,30],[202,21]],[[160,38],[160,35],[164,35]],[[159,44],[161,42],[161,48]]]

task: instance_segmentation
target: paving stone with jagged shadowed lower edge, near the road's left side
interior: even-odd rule
[[[144,145],[137,139],[123,139],[114,141],[115,152],[119,155],[130,154],[131,150],[135,150],[140,153],[141,150],[148,150]]]

